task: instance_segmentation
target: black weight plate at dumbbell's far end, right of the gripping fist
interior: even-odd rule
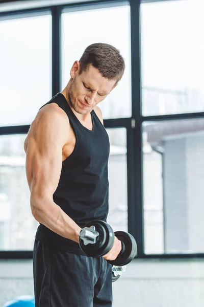
[[[130,233],[116,231],[115,236],[123,242],[125,249],[115,260],[108,262],[114,266],[125,266],[137,255],[137,244],[135,238]]]

